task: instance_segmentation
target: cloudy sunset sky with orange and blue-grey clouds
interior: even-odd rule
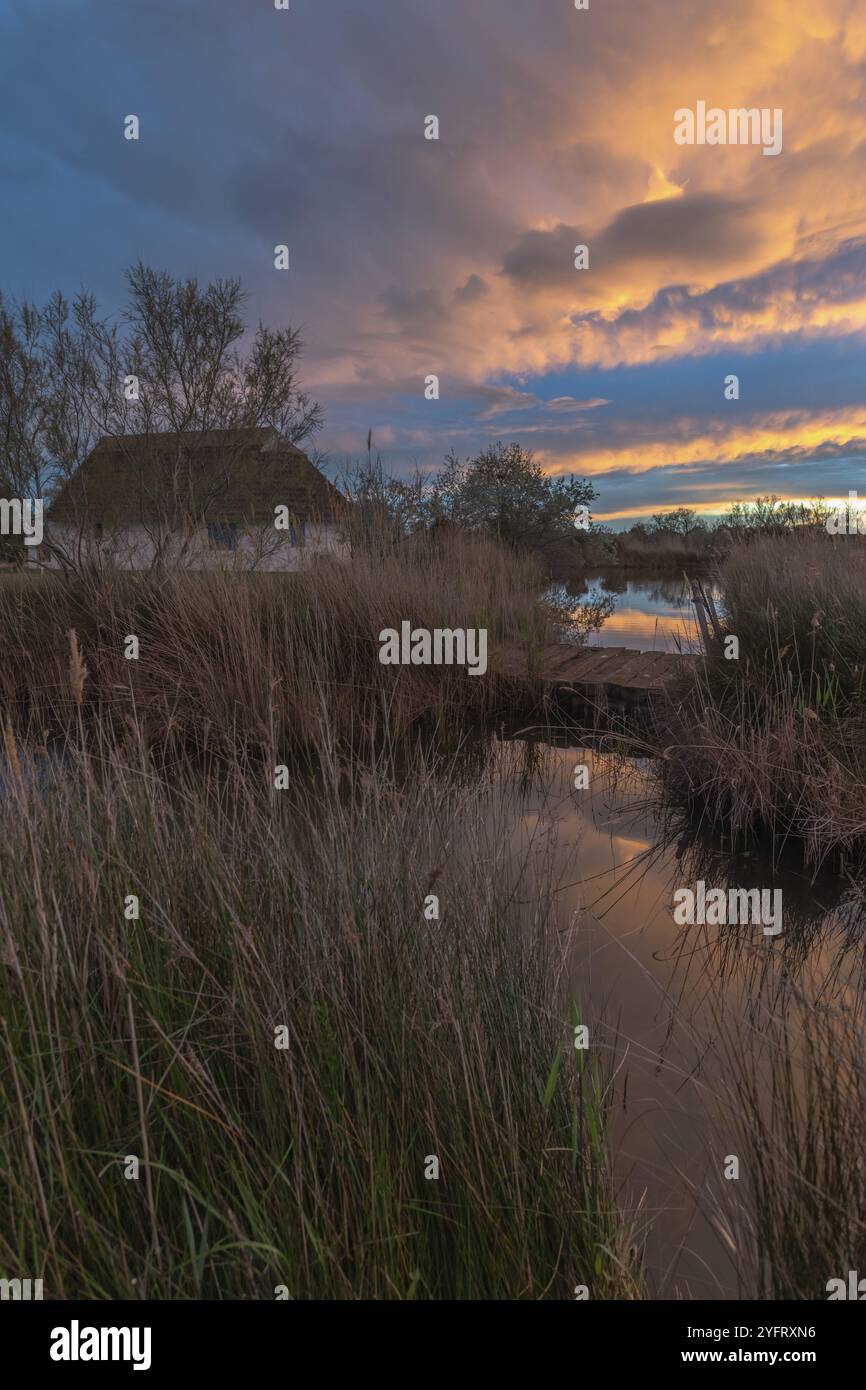
[[[677,143],[699,101],[781,152]],[[117,311],[140,259],[300,328],[332,477],[371,430],[614,527],[866,496],[862,0],[0,0],[0,178],[4,293]]]

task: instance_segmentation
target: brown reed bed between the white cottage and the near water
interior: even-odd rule
[[[352,564],[322,559],[297,574],[101,573],[0,585],[0,706],[18,731],[70,726],[70,631],[89,678],[83,716],[132,723],[154,744],[277,760],[314,741],[324,703],[334,738],[371,728],[400,737],[420,719],[461,724],[525,699],[503,652],[532,653],[563,617],[539,598],[531,560],[481,539],[417,541]],[[487,628],[488,673],[385,667],[379,631]],[[126,638],[139,657],[125,656]],[[514,663],[507,663],[514,670]],[[282,758],[279,759],[282,760]]]

